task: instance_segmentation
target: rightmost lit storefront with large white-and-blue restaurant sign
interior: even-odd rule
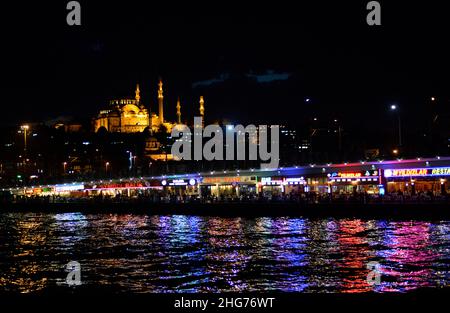
[[[384,177],[387,191],[414,195],[420,192],[447,194],[450,190],[448,179],[450,167],[430,167],[411,169],[386,169]]]

